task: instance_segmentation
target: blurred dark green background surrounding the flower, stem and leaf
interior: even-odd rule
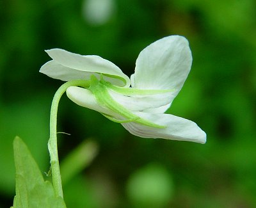
[[[15,194],[19,135],[49,168],[49,111],[61,81],[38,72],[60,47],[97,54],[130,76],[139,52],[188,38],[193,66],[168,113],[195,121],[207,143],[137,138],[63,96],[61,161],[91,138],[99,153],[64,184],[68,207],[256,207],[254,0],[0,0],[0,207]],[[70,167],[72,168],[72,166]]]

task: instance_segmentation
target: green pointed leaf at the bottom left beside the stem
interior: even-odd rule
[[[13,208],[66,207],[63,198],[56,196],[51,182],[45,181],[25,143],[13,141],[16,168],[16,196]]]

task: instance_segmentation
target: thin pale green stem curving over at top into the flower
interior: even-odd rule
[[[48,141],[48,149],[51,157],[51,171],[52,171],[52,184],[56,196],[61,196],[63,198],[61,175],[60,175],[60,164],[58,158],[58,145],[57,145],[57,112],[58,104],[60,102],[61,96],[66,92],[67,88],[70,86],[83,86],[88,88],[90,86],[90,81],[85,80],[75,80],[68,81],[62,84],[60,88],[55,93],[52,106],[51,106],[51,116],[50,116],[50,138]]]

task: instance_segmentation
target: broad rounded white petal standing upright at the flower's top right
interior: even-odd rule
[[[174,98],[188,77],[191,63],[188,40],[183,36],[167,36],[140,52],[132,86],[140,89],[172,89]]]

